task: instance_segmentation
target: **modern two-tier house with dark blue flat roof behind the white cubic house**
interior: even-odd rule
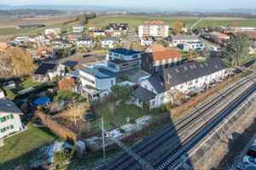
[[[108,67],[124,71],[141,65],[141,52],[125,48],[108,50]]]

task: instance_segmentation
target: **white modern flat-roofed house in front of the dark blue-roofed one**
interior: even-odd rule
[[[91,68],[79,69],[79,79],[84,97],[91,100],[110,94],[110,88],[116,83],[116,78],[106,71]]]

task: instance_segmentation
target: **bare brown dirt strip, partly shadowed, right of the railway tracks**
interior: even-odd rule
[[[230,168],[256,131],[256,105],[221,142],[195,167],[195,170],[226,170]]]

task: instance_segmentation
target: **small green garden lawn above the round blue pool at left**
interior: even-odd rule
[[[12,89],[12,91],[14,93],[18,93],[20,90],[24,90],[26,88],[41,88],[43,86],[46,86],[47,84],[41,83],[41,82],[32,82],[32,77],[27,78],[26,81],[24,82],[16,82],[16,83],[20,83],[20,87]],[[16,84],[19,85],[19,84]]]

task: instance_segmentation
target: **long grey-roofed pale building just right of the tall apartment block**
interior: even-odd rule
[[[198,37],[195,36],[171,36],[168,38],[170,47],[183,45],[185,42],[198,42]]]

